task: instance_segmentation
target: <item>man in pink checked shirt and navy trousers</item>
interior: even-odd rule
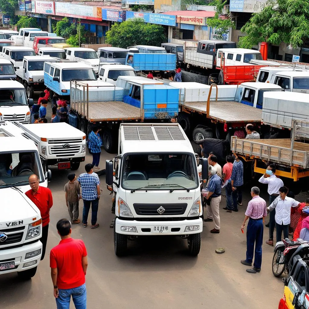
[[[246,221],[249,219],[247,226],[247,252],[246,259],[241,260],[241,264],[252,266],[253,250],[254,264],[253,268],[246,269],[248,273],[259,273],[262,265],[262,243],[263,243],[263,217],[267,216],[266,202],[260,196],[260,189],[253,187],[251,189],[252,200],[249,201],[243,225],[245,227]]]

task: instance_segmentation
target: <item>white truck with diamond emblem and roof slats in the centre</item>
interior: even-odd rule
[[[116,201],[115,254],[126,254],[128,239],[177,235],[197,256],[203,207],[195,154],[183,129],[177,123],[123,123],[118,145],[118,155],[106,161],[106,182]],[[204,179],[207,159],[202,167]]]

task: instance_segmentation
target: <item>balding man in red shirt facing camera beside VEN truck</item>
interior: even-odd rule
[[[53,196],[49,188],[41,187],[40,178],[36,174],[32,174],[28,178],[31,189],[25,194],[40,210],[42,217],[42,237],[40,238],[43,244],[41,260],[44,259],[47,236],[48,236],[48,224],[49,224],[49,212],[53,206]]]

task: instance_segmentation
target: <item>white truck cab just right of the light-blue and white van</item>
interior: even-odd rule
[[[116,64],[104,64],[100,66],[99,79],[103,82],[116,85],[116,81],[119,76],[136,76],[136,72],[132,66]]]

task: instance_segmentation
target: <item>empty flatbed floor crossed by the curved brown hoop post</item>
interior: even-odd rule
[[[186,110],[205,113],[206,102],[185,102]],[[209,117],[223,122],[261,122],[262,110],[234,101],[210,101]]]

